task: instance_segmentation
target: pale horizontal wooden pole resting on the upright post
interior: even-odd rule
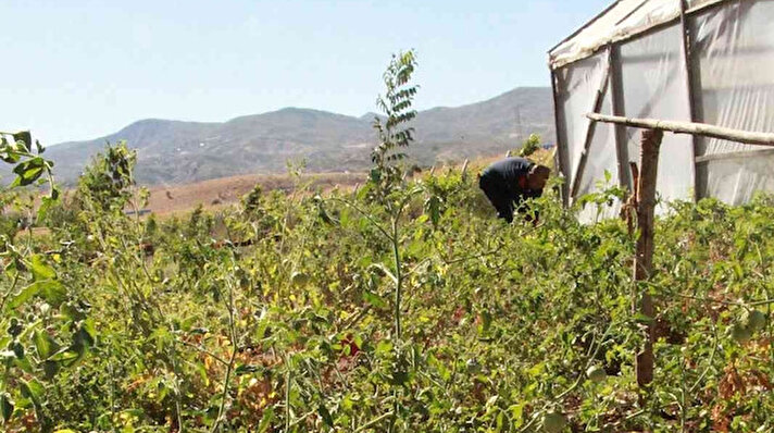
[[[695,122],[661,121],[658,119],[629,119],[616,115],[588,113],[586,116],[596,122],[615,123],[619,125],[639,127],[644,129],[667,131],[675,134],[694,134],[702,137],[719,138],[746,145],[774,147],[774,134],[751,133],[741,129],[708,125]]]

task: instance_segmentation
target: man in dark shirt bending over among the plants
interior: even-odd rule
[[[551,174],[545,165],[537,165],[524,158],[505,158],[484,170],[478,186],[484,190],[497,216],[513,222],[513,205],[524,212],[523,202],[542,195],[542,188]]]

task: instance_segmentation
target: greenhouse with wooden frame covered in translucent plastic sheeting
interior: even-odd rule
[[[632,190],[640,129],[589,112],[774,132],[772,22],[774,0],[619,0],[551,49],[565,205],[606,172]],[[664,201],[745,203],[774,191],[774,148],[665,134],[657,189]]]

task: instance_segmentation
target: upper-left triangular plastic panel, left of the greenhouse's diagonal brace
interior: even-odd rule
[[[594,108],[602,77],[608,69],[608,54],[598,54],[557,71],[557,103],[562,125],[559,127],[560,144],[566,153],[569,185],[577,161],[583,152],[589,120],[586,113]]]

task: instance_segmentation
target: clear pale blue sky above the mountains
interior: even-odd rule
[[[546,51],[611,0],[2,0],[0,131],[45,144],[147,117],[375,111],[389,55],[419,109],[549,86]]]

